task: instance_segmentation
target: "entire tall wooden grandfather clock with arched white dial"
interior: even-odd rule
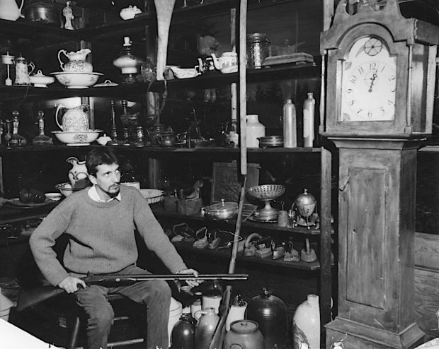
[[[321,33],[322,134],[339,148],[338,316],[326,348],[411,348],[416,153],[431,133],[439,28],[397,0],[341,0]]]

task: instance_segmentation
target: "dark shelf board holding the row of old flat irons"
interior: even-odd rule
[[[209,257],[218,257],[222,259],[230,259],[231,249],[194,249],[191,244],[185,242],[173,242],[174,246],[181,253],[187,254],[198,254]],[[243,252],[239,252],[236,257],[236,261],[238,262],[246,262],[251,264],[264,264],[266,266],[274,266],[274,267],[282,267],[282,268],[290,268],[290,269],[302,269],[306,271],[319,271],[320,263],[319,261],[313,262],[305,262],[305,261],[297,261],[297,262],[285,262],[283,259],[270,259],[265,258],[261,259],[255,256],[244,256]]]

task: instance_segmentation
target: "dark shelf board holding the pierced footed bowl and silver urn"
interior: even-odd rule
[[[152,211],[157,218],[172,218],[174,220],[185,220],[185,221],[195,221],[195,222],[203,222],[208,225],[214,224],[217,227],[234,227],[236,225],[236,220],[225,221],[216,221],[216,220],[207,220],[203,215],[181,215],[178,213],[167,212],[164,211],[164,208],[161,206],[154,207],[152,206]],[[275,223],[258,223],[253,222],[251,220],[246,220],[242,227],[249,228],[251,230],[263,230],[264,232],[280,232],[285,234],[300,234],[305,236],[319,236],[319,229],[307,229],[306,227],[278,227]]]

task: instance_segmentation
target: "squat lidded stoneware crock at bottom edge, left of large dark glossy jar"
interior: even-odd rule
[[[264,340],[258,323],[251,320],[237,320],[230,324],[230,331],[224,337],[222,349],[263,349]]]

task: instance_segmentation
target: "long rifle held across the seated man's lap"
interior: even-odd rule
[[[249,274],[198,274],[198,278],[195,278],[193,274],[133,274],[133,275],[102,275],[102,274],[90,274],[82,280],[87,285],[101,285],[106,287],[118,287],[127,286],[134,283],[139,283],[147,280],[247,280]],[[42,286],[33,290],[23,290],[18,298],[17,310],[21,312],[28,307],[48,300],[56,295],[63,293],[62,288],[54,286]]]

